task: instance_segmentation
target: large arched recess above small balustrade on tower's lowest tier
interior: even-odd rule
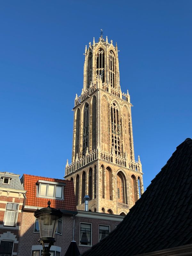
[[[123,172],[117,173],[117,201],[127,204],[127,184]]]

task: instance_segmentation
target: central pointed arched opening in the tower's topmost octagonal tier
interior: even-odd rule
[[[97,77],[105,83],[105,51],[102,48],[97,51],[96,72]]]

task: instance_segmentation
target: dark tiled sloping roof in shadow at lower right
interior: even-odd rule
[[[83,255],[131,256],[192,244],[192,140],[186,139],[124,220]]]

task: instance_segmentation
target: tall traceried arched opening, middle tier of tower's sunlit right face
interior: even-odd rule
[[[116,155],[121,154],[119,110],[115,102],[111,105],[112,147]]]

